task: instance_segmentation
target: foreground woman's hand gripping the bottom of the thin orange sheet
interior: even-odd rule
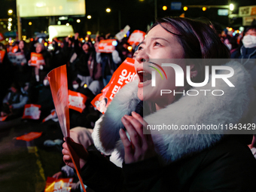
[[[74,142],[74,141],[72,140],[72,142]],[[79,157],[79,163],[80,163],[80,169],[81,169],[87,163],[87,154],[88,154],[88,152],[85,149],[83,149],[84,148],[83,145],[81,145],[82,148],[81,148],[81,146],[78,146],[78,147],[76,147],[76,146],[78,146],[78,144],[72,145],[72,148]],[[64,142],[62,144],[62,147],[63,147],[62,154],[63,154],[64,163],[66,163],[67,166],[70,166],[71,168],[75,169],[75,166],[72,162],[72,157],[71,157],[71,154],[69,152],[69,148],[68,148],[67,143]]]

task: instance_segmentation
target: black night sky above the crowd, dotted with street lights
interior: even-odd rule
[[[15,0],[0,0],[2,6],[0,6],[0,18],[8,18],[8,9],[13,9],[16,13],[16,1]],[[165,16],[179,16],[185,13],[185,17],[197,18],[206,17],[213,23],[217,23],[221,27],[228,25],[228,19],[224,16],[218,16],[218,8],[210,8],[206,11],[202,11],[201,8],[189,8],[187,11],[171,11],[170,5],[172,1],[157,0],[157,17]],[[173,1],[178,2],[178,1]],[[239,6],[256,5],[252,0],[239,0],[239,1],[227,1],[227,0],[184,0],[180,1],[182,6],[184,5],[229,5],[232,2],[235,5],[234,14],[238,14]],[[167,11],[163,11],[163,5],[167,6]],[[111,8],[111,13],[106,13],[105,8]],[[87,15],[91,15],[92,19],[87,20]],[[119,24],[118,17],[120,16],[121,23]],[[59,17],[55,17],[57,21]],[[76,23],[77,19],[81,19],[81,23]],[[29,26],[29,21],[32,21],[33,25]],[[15,19],[14,19],[15,22]],[[62,24],[69,22],[75,32],[79,32],[82,35],[88,30],[92,33],[99,31],[106,34],[110,32],[115,34],[119,32],[119,28],[123,29],[124,26],[129,25],[130,31],[140,29],[142,31],[147,30],[147,26],[154,23],[154,0],[87,0],[86,1],[86,16],[74,17],[70,16],[69,21],[63,21]],[[239,26],[242,23],[242,19],[238,18],[233,20],[230,25]],[[47,30],[49,24],[49,17],[33,17],[23,18],[23,35],[32,36],[34,32],[42,32]],[[119,27],[120,26],[120,27]]]

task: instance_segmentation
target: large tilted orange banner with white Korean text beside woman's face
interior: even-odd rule
[[[101,111],[103,114],[111,103],[115,94],[136,77],[134,68],[134,59],[126,58],[112,75],[109,83],[104,87],[102,93],[99,93],[91,102],[91,104]]]

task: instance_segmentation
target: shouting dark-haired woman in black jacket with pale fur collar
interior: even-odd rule
[[[181,17],[157,20],[136,53],[139,78],[116,94],[96,122],[92,136],[99,151],[75,148],[84,184],[95,191],[253,191],[256,161],[247,146],[252,136],[225,133],[239,123],[250,125],[254,88],[246,69],[229,56],[205,23]],[[206,66],[226,70],[211,75]],[[209,77],[224,77],[227,69],[234,74],[229,82],[219,79],[212,86]],[[182,71],[186,78],[180,78]],[[182,80],[183,85],[175,85]],[[224,94],[200,93],[212,89]],[[199,94],[189,96],[192,92]],[[160,125],[169,129],[160,130]],[[182,129],[198,125],[224,129]],[[64,162],[74,168],[66,142],[62,146]],[[122,168],[101,153],[115,154]]]

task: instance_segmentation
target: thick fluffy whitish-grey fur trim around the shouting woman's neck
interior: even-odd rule
[[[196,125],[196,124],[227,124],[239,123],[248,119],[254,104],[254,88],[251,78],[239,62],[227,62],[234,70],[233,77],[229,78],[235,87],[226,83],[212,87],[211,78],[204,87],[193,87],[193,90],[223,90],[223,96],[199,94],[197,96],[182,96],[177,102],[167,105],[157,112],[144,117],[149,125],[157,122],[166,125]],[[224,74],[221,70],[219,74]],[[222,81],[222,80],[221,80]],[[124,157],[123,143],[120,140],[119,130],[123,127],[121,117],[135,110],[139,102],[137,97],[138,81],[126,84],[114,97],[108,110],[97,121],[93,130],[93,142],[96,148],[104,154],[118,151],[121,160]],[[157,120],[157,122],[156,122]],[[208,134],[201,134],[198,130],[168,130],[168,133],[152,132],[155,150],[163,163],[171,163],[187,155],[203,151],[214,145],[224,135],[224,132],[215,134],[207,130]],[[158,133],[157,133],[158,132]]]

